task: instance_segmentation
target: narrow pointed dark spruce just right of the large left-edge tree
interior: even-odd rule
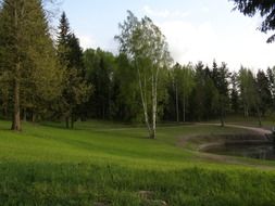
[[[89,98],[91,86],[85,80],[79,40],[71,33],[68,20],[64,12],[59,25],[58,56],[65,73],[60,111],[65,117],[66,128],[70,127],[70,120],[71,128],[73,128],[79,115],[79,106]]]

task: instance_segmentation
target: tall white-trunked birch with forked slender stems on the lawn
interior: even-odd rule
[[[115,37],[120,52],[132,61],[138,75],[138,85],[149,137],[155,139],[158,112],[158,81],[171,61],[165,37],[153,22],[145,16],[138,20],[130,11]]]

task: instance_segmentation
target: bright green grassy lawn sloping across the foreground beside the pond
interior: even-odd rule
[[[215,160],[180,144],[242,129],[168,125],[149,140],[142,127],[104,121],[9,127],[0,121],[0,205],[275,205],[273,162]]]

